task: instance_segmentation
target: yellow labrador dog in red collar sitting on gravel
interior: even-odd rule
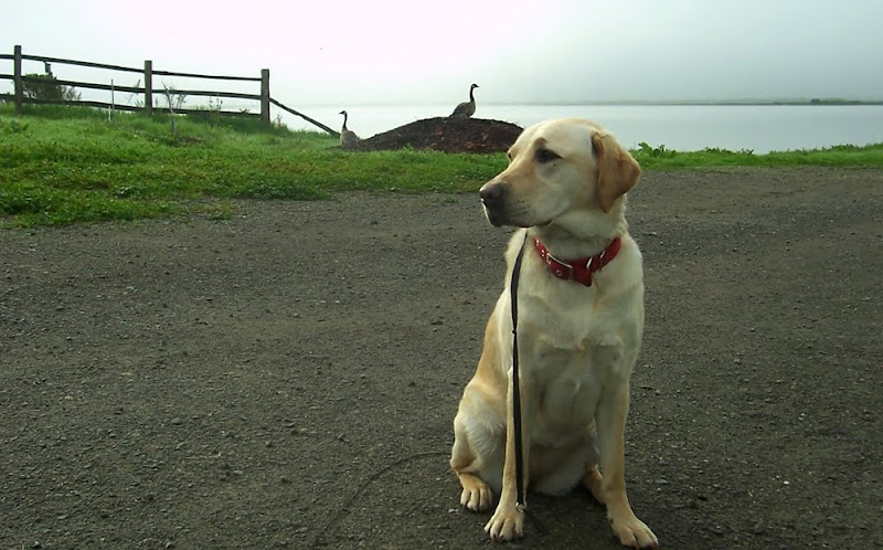
[[[518,284],[524,486],[561,495],[582,483],[606,505],[623,544],[656,548],[626,497],[629,377],[643,331],[643,272],[626,192],[640,167],[600,126],[564,118],[524,130],[510,163],[479,192],[493,225],[514,225],[506,289],[454,420],[460,503],[486,510],[494,541],[522,536],[517,506],[510,284]]]

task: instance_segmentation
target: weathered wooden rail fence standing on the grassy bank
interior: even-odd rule
[[[155,109],[153,106],[153,95],[157,93],[164,94],[167,91],[163,89],[156,89],[153,87],[153,76],[183,76],[190,78],[204,78],[204,80],[212,80],[212,81],[227,81],[227,82],[256,82],[260,83],[260,92],[258,94],[244,94],[237,92],[217,92],[217,91],[204,91],[204,89],[173,89],[168,91],[173,93],[174,95],[182,95],[182,96],[202,96],[202,97],[228,97],[228,98],[236,98],[236,99],[253,99],[260,102],[260,113],[247,113],[247,112],[230,112],[230,110],[220,110],[215,109],[213,113],[217,113],[221,115],[231,115],[231,116],[243,116],[243,117],[260,117],[260,120],[269,125],[270,123],[270,104],[276,105],[277,107],[291,113],[292,115],[299,116],[307,120],[308,123],[321,128],[322,130],[338,136],[339,134],[329,128],[328,126],[319,123],[318,120],[313,120],[312,118],[304,115],[302,113],[298,113],[297,110],[285,106],[280,102],[273,99],[269,95],[269,70],[262,68],[260,76],[221,76],[221,75],[210,75],[210,74],[195,74],[195,73],[175,73],[171,71],[155,71],[153,70],[153,62],[152,61],[145,61],[143,68],[135,68],[135,67],[125,67],[119,65],[107,65],[104,63],[93,63],[89,61],[76,61],[76,60],[64,60],[60,57],[49,57],[45,55],[24,55],[21,52],[21,46],[17,45],[14,47],[14,52],[12,55],[9,54],[0,54],[0,60],[12,60],[12,74],[8,73],[0,73],[0,80],[9,80],[13,81],[14,92],[12,94],[13,102],[15,104],[15,113],[22,113],[22,105],[25,103],[33,103],[33,104],[65,104],[65,105],[84,105],[89,107],[99,107],[99,108],[114,108],[119,110],[145,110],[148,114],[151,114]],[[43,83],[46,82],[43,78],[36,78],[33,76],[26,76],[22,73],[22,60],[26,61],[38,61],[43,63],[58,63],[58,64],[67,64],[67,65],[78,65],[84,67],[91,68],[104,68],[109,71],[119,71],[119,72],[127,72],[127,73],[137,73],[142,75],[143,86],[117,86],[113,84],[98,84],[92,82],[75,82],[75,81],[62,81],[55,80],[53,81],[54,84],[63,85],[63,86],[71,86],[76,88],[87,88],[87,89],[103,89],[109,92],[124,92],[129,94],[142,94],[143,95],[143,105],[142,106],[132,106],[132,105],[120,105],[120,104],[111,104],[106,102],[95,102],[95,101],[65,101],[65,99],[40,99],[40,98],[32,98],[25,97],[24,95],[24,83],[25,82],[38,82]],[[175,108],[174,113],[177,114],[193,114],[193,113],[205,113],[205,109],[188,109],[188,108]]]

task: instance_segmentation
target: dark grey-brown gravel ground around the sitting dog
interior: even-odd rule
[[[883,547],[883,171],[650,172],[629,219],[638,516]],[[0,548],[487,547],[444,455],[507,236],[366,194],[0,232]],[[512,548],[617,548],[584,493],[531,509]]]

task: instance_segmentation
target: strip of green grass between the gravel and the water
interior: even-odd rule
[[[0,226],[175,214],[224,220],[240,198],[315,200],[338,191],[475,192],[503,154],[348,152],[330,136],[255,119],[152,118],[71,107],[0,105]],[[642,144],[646,170],[717,166],[883,167],[883,145],[753,155],[675,152]]]

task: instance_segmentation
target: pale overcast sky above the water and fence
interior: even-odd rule
[[[0,51],[15,44],[164,71],[269,68],[292,106],[456,103],[472,82],[487,103],[883,98],[883,0],[21,0],[0,11]]]

